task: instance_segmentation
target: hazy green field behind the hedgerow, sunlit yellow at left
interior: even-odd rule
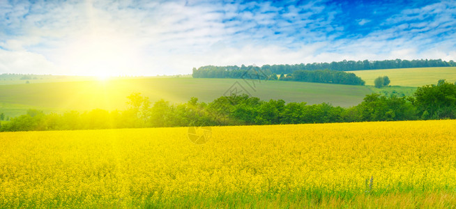
[[[236,83],[237,82],[237,83]],[[234,85],[234,86],[233,86]],[[250,85],[250,86],[249,86]],[[262,100],[282,99],[286,102],[350,107],[373,92],[368,86],[318,84],[305,82],[261,81],[246,84],[242,79],[144,78],[114,79],[105,82],[91,80],[40,84],[0,85],[0,112],[7,116],[24,114],[26,109],[49,111],[125,109],[126,96],[139,92],[152,102],[164,99],[170,102],[188,102],[191,97],[211,102],[229,89],[248,91]]]

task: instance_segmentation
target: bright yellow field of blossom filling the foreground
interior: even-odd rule
[[[456,121],[0,133],[0,208],[452,207]]]

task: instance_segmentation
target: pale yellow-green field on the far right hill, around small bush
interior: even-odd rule
[[[427,84],[437,84],[439,79],[446,79],[448,82],[456,82],[456,67],[445,68],[401,68],[386,70],[356,70],[353,72],[361,79],[365,80],[366,85],[374,85],[374,79],[379,76],[388,76],[391,86],[424,86]]]

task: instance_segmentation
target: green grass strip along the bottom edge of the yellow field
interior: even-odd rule
[[[314,191],[282,194],[225,194],[214,198],[189,196],[149,201],[142,208],[454,208],[453,191],[359,192]],[[118,206],[136,205],[118,203]]]

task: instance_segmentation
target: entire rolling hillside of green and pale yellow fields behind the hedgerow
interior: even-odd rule
[[[307,82],[262,81],[242,79],[194,79],[190,77],[123,78],[106,81],[89,79],[52,79],[8,82],[0,85],[0,112],[6,116],[24,114],[26,109],[40,109],[47,113],[69,110],[125,109],[126,96],[139,92],[151,102],[160,99],[172,103],[187,102],[192,97],[211,102],[229,91],[249,93],[261,100],[285,102],[328,102],[335,106],[351,107],[370,93],[411,95],[417,86],[436,84],[439,79],[456,81],[456,68],[402,68],[386,70],[350,71],[366,81],[367,86],[319,84]],[[375,78],[390,77],[390,87],[374,88]],[[66,80],[66,81],[65,81]],[[1,81],[0,81],[1,82]],[[41,83],[42,82],[42,83]],[[408,86],[408,87],[406,87]]]

